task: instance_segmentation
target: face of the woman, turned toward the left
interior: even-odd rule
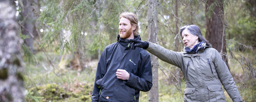
[[[199,43],[198,36],[191,34],[187,28],[182,31],[181,38],[183,40],[183,44],[188,48],[193,48]]]

